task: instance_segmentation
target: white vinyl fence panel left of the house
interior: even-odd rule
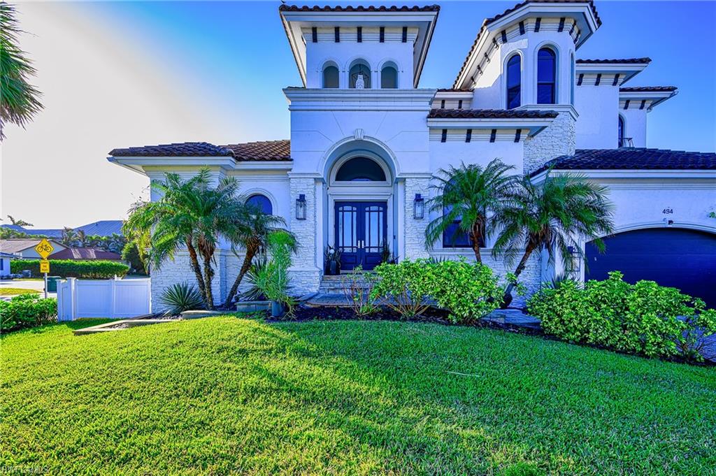
[[[82,317],[125,319],[152,310],[150,278],[77,279],[57,283],[57,320]]]

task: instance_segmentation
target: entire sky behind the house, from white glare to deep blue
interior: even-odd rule
[[[279,4],[19,4],[21,46],[45,108],[26,129],[7,127],[0,215],[42,228],[125,218],[147,197],[148,180],[107,162],[115,147],[288,138],[281,88],[301,81]],[[441,1],[420,86],[450,87],[483,19],[514,4]],[[603,25],[578,57],[648,56],[652,64],[628,84],[679,87],[649,113],[647,145],[716,151],[716,3],[598,0],[596,8]],[[31,185],[16,180],[28,173]],[[42,193],[28,195],[29,186]],[[72,206],[58,213],[48,196]]]

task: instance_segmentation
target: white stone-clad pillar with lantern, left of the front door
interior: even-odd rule
[[[296,296],[318,291],[321,283],[321,267],[316,259],[316,241],[322,235],[322,225],[318,223],[320,197],[316,196],[316,178],[314,176],[289,174],[291,186],[291,232],[299,242],[299,251],[294,255],[291,275],[291,294]],[[306,219],[296,218],[296,200],[306,195]],[[322,257],[321,257],[322,259]]]

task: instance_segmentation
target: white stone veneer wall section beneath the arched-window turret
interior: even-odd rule
[[[560,155],[573,155],[575,140],[576,121],[569,112],[561,112],[545,130],[525,139],[524,172],[532,173]]]

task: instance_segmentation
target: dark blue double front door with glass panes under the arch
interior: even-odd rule
[[[336,247],[341,270],[380,264],[387,236],[386,202],[336,202]]]

